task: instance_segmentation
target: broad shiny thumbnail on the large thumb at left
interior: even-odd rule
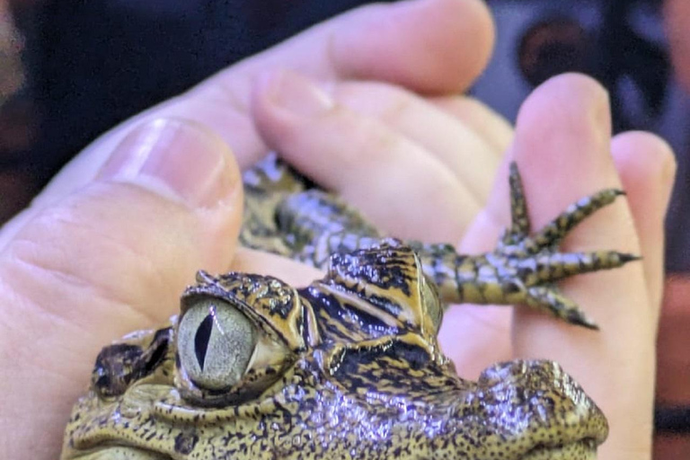
[[[155,119],[122,139],[99,179],[134,183],[190,208],[213,208],[238,183],[225,142],[210,130],[182,119]]]

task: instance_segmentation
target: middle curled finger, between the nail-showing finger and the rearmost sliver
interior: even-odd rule
[[[381,121],[435,155],[475,199],[487,199],[500,152],[472,127],[419,95],[390,84],[345,82],[336,84],[330,93],[349,110]]]

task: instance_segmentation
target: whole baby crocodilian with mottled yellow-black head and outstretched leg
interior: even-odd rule
[[[551,361],[466,381],[438,346],[447,302],[523,303],[593,327],[553,283],[618,252],[563,254],[563,236],[621,192],[604,190],[529,236],[517,168],[513,223],[494,252],[382,239],[275,160],[245,175],[242,242],[307,261],[323,279],[200,271],[181,312],[102,349],[63,459],[584,460],[607,423]],[[330,255],[329,255],[330,254]]]

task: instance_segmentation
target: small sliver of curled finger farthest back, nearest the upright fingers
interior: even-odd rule
[[[431,98],[431,102],[462,121],[465,127],[481,137],[499,156],[508,150],[513,141],[513,127],[508,120],[471,96],[438,96]]]

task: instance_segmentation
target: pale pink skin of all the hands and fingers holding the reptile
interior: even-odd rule
[[[0,457],[55,458],[97,350],[173,314],[195,270],[318,276],[235,245],[239,170],[276,149],[391,234],[465,252],[491,249],[509,220],[509,159],[535,227],[583,195],[622,186],[627,199],[566,242],[644,257],[564,284],[601,332],[458,306],[442,344],[464,376],[503,358],[560,361],[609,417],[600,458],[648,460],[671,152],[647,133],[611,138],[606,93],[583,76],[537,89],[514,131],[453,95],[481,72],[492,37],[474,0],[360,9],[87,147],[0,233]]]

